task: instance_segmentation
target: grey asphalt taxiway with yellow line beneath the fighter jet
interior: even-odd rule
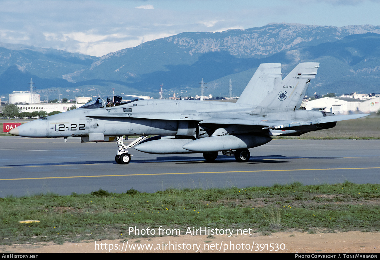
[[[131,163],[114,161],[116,142],[81,143],[79,138],[33,139],[0,136],[0,197],[46,192],[60,195],[104,189],[272,186],[380,183],[380,140],[272,140],[250,149],[249,162],[202,154],[155,155],[128,150]]]

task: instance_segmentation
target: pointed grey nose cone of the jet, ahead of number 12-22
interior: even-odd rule
[[[21,126],[17,126],[9,131],[14,136],[25,137],[47,137],[48,123],[46,119],[37,119]]]

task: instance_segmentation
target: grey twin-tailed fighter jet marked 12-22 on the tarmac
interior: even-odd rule
[[[281,64],[261,64],[236,103],[99,97],[78,109],[22,124],[9,134],[116,141],[118,164],[130,162],[127,149],[135,145],[153,154],[203,153],[206,161],[214,161],[222,151],[246,162],[248,148],[268,143],[272,136],[299,136],[368,115],[299,110],[318,68],[319,63],[299,63],[282,79]],[[123,137],[130,135],[140,137],[124,145]]]

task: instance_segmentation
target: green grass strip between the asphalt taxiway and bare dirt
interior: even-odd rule
[[[40,194],[0,198],[0,243],[35,243],[147,237],[129,227],[251,228],[253,232],[309,233],[380,230],[380,184],[304,186],[299,182],[239,189],[130,189],[116,194]],[[40,222],[20,223],[37,220]],[[155,234],[158,236],[158,234]]]

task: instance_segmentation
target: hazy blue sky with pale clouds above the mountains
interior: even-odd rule
[[[101,56],[181,32],[380,25],[379,14],[379,0],[1,0],[0,42]]]

